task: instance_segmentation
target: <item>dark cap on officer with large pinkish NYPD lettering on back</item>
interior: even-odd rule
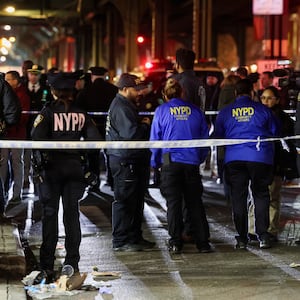
[[[47,74],[48,83],[55,90],[72,90],[75,88],[77,74],[59,72]]]

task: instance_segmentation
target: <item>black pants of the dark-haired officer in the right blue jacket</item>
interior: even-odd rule
[[[255,232],[260,239],[268,236],[269,185],[273,179],[273,167],[264,163],[234,161],[225,166],[225,180],[230,187],[233,221],[239,239],[247,242],[248,235],[248,187],[254,199]]]

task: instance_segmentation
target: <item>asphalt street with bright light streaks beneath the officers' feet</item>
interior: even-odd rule
[[[96,281],[107,285],[98,291],[82,292],[71,299],[300,299],[300,193],[299,188],[284,188],[282,231],[271,249],[260,250],[252,244],[248,250],[235,250],[235,231],[230,204],[223,186],[204,177],[204,203],[211,231],[213,253],[199,254],[186,244],[183,254],[171,256],[167,250],[166,203],[158,189],[149,189],[152,199],[145,204],[144,237],[155,241],[152,251],[114,253],[111,245],[112,192],[102,186],[103,199],[81,203],[82,244],[80,271],[87,272],[86,284],[95,283],[93,266],[100,271],[118,272],[119,278]],[[41,224],[29,230],[29,242],[35,253],[41,241]],[[60,227],[57,254],[63,261],[64,230]],[[69,299],[57,296],[51,299]]]

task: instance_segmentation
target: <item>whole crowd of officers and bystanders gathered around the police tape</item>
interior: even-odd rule
[[[263,140],[299,134],[299,122],[295,127],[284,113],[272,72],[262,74],[259,87],[259,77],[250,76],[244,67],[223,81],[213,72],[202,80],[195,75],[194,61],[192,50],[178,49],[174,72],[165,78],[159,93],[152,90],[151,82],[129,73],[112,84],[109,70],[101,66],[87,73],[57,68],[45,73],[41,66],[24,61],[22,76],[12,70],[0,78],[1,90],[5,90],[0,129],[6,124],[1,137],[36,141],[259,139],[257,143],[218,146],[218,172],[212,171],[212,176],[224,184],[232,204],[235,248],[246,249],[252,239],[259,241],[261,249],[270,248],[280,231],[280,191],[287,169],[294,169],[291,176],[298,176],[299,141],[288,141],[283,147],[279,139]],[[207,110],[219,113],[205,115]],[[154,117],[140,115],[141,111],[154,112]],[[299,121],[299,103],[297,114]],[[170,253],[181,253],[186,242],[193,242],[200,253],[213,252],[200,165],[213,169],[215,148],[1,149],[1,221],[34,186],[42,207],[40,268],[51,281],[62,199],[64,264],[78,272],[79,201],[85,191],[88,197],[101,197],[100,173],[105,169],[106,184],[114,193],[113,251],[152,249],[155,243],[146,240],[142,231],[152,168],[158,178],[155,186],[167,202]]]

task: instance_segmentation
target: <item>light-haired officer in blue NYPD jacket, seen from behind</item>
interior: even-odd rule
[[[208,138],[203,112],[182,99],[183,89],[169,78],[163,90],[166,103],[155,110],[150,140],[192,140]],[[167,200],[169,251],[181,253],[183,247],[183,201],[190,217],[193,237],[201,253],[210,252],[209,227],[202,203],[203,185],[199,166],[208,148],[151,149],[151,166],[161,167],[161,193]]]

